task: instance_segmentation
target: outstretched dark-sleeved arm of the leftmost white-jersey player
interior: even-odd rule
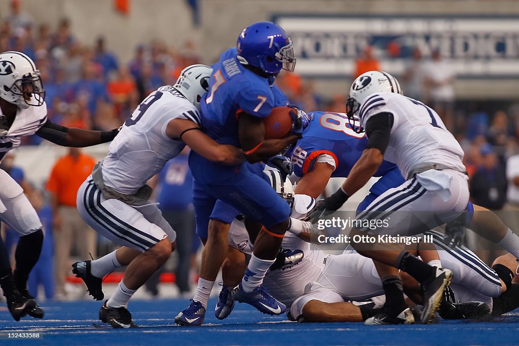
[[[88,147],[101,143],[111,142],[119,133],[119,129],[112,131],[91,131],[83,129],[69,129],[47,120],[36,134],[47,141],[65,147]]]

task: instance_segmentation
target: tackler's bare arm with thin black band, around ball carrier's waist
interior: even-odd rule
[[[166,128],[166,135],[174,140],[181,139],[196,153],[212,162],[237,165],[245,161],[240,148],[217,143],[191,120],[171,120]]]

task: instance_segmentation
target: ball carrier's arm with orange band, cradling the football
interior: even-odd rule
[[[245,159],[250,163],[265,161],[299,139],[299,135],[291,133],[280,139],[265,140],[263,119],[244,112],[238,120],[238,137]]]

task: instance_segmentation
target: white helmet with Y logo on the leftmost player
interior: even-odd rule
[[[23,109],[43,105],[45,89],[31,58],[15,51],[0,53],[0,97]]]

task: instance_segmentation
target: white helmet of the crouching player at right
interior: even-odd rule
[[[348,114],[348,118],[351,117],[350,123],[367,96],[380,91],[403,94],[398,80],[384,71],[369,71],[353,81],[348,101],[346,101],[346,114]],[[354,130],[357,131],[357,128],[359,127],[356,126]],[[361,128],[357,132],[362,132]]]

